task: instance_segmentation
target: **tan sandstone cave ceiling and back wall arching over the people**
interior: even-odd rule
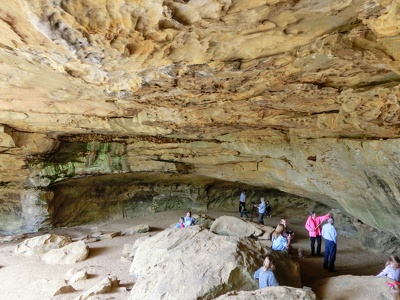
[[[1,233],[207,208],[242,185],[399,238],[399,5],[2,3]]]

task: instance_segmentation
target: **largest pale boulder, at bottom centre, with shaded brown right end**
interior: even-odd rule
[[[282,285],[301,286],[298,265],[254,238],[220,236],[199,226],[169,228],[137,248],[130,299],[213,299],[255,290],[253,274],[267,254],[276,261]]]

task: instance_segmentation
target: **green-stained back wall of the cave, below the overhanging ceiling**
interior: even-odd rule
[[[207,209],[221,201],[217,200],[220,194],[214,200],[207,194],[208,186],[227,182],[306,197],[398,234],[397,224],[387,217],[399,213],[394,140],[275,140],[275,145],[162,138],[85,142],[90,138],[65,138],[56,152],[41,160],[31,159],[30,188],[22,194],[5,195],[8,202],[14,198],[14,215],[27,215],[27,220],[34,216],[29,223],[38,229],[139,212],[143,201],[152,203],[144,206],[148,212],[193,205]],[[141,186],[132,186],[132,182]],[[175,192],[174,186],[179,187]],[[232,201],[231,189],[223,205]],[[18,204],[28,203],[26,199],[36,199],[36,209]],[[77,209],[82,199],[87,208]],[[70,217],[74,211],[81,211],[82,216]],[[2,215],[10,218],[10,208],[3,206]],[[14,226],[17,229],[20,224]]]

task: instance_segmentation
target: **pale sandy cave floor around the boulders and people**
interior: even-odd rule
[[[221,215],[239,217],[237,212],[208,211],[194,213],[207,214],[214,218]],[[123,231],[140,224],[147,224],[151,228],[148,233],[134,236],[117,236],[113,239],[90,243],[88,244],[90,247],[89,258],[74,265],[46,265],[40,260],[39,255],[31,257],[14,255],[13,250],[21,241],[2,243],[0,244],[0,299],[75,299],[109,275],[116,276],[120,280],[120,288],[91,299],[128,299],[129,290],[134,285],[135,280],[133,276],[129,275],[130,262],[121,260],[124,245],[133,244],[141,236],[154,235],[158,231],[170,227],[171,224],[178,221],[180,216],[184,215],[185,211],[168,211],[51,231],[60,235],[81,237],[96,230],[101,232]],[[271,218],[265,218],[265,224],[276,226],[280,217],[273,215]],[[304,228],[306,218],[307,215],[288,217],[289,229],[295,232],[292,241],[292,257],[300,265],[301,279],[304,286],[311,286],[315,280],[332,276],[376,275],[383,269],[388,258],[387,254],[363,250],[358,240],[339,236],[335,264],[337,272],[332,273],[324,270],[322,268],[323,257],[310,255],[309,239]],[[254,220],[256,221],[256,218]],[[40,234],[44,233],[41,232]],[[305,256],[303,259],[297,257],[297,249],[299,247],[303,249]],[[65,274],[71,268],[86,270],[89,278],[74,283],[75,292],[51,297],[55,287],[60,286],[60,281],[64,279]]]

